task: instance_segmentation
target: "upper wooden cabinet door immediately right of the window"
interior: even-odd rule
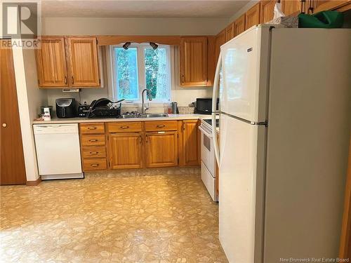
[[[207,37],[184,36],[180,40],[180,85],[206,86]]]

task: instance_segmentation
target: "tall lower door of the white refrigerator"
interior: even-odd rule
[[[219,237],[229,262],[261,262],[265,126],[220,114]]]

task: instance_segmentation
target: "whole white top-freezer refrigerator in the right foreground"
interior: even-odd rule
[[[214,135],[213,143],[229,262],[338,256],[350,44],[351,29],[259,25],[221,46],[213,86],[216,101],[221,71],[220,142]]]

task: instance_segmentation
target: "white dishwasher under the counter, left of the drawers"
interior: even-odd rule
[[[33,129],[42,180],[84,177],[77,123],[34,124]]]

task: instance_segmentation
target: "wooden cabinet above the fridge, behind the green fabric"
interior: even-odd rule
[[[351,9],[351,0],[310,0],[308,13],[318,13],[326,10],[338,10],[340,12]]]

